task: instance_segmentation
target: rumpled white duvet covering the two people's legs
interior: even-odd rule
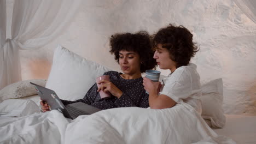
[[[31,101],[25,104],[38,109]],[[164,110],[102,110],[74,120],[56,110],[29,114],[1,116],[0,143],[235,143],[214,133],[185,103]]]

